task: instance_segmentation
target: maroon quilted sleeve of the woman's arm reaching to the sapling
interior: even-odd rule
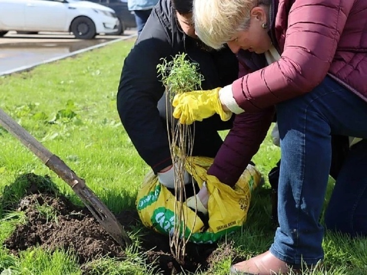
[[[310,92],[325,78],[353,0],[295,0],[287,15],[279,2],[276,31],[285,32],[279,61],[247,74],[232,85],[245,112],[258,112]]]

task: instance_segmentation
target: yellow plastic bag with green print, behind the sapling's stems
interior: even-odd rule
[[[214,159],[210,157],[188,157],[186,170],[199,187],[206,182],[209,191],[208,224],[186,207],[185,238],[193,243],[214,243],[225,234],[239,229],[246,220],[252,190],[260,184],[260,172],[248,165],[232,189],[220,183],[207,170]],[[162,234],[173,234],[175,224],[175,196],[158,182],[153,171],[148,173],[138,192],[136,207],[143,224]],[[183,203],[186,206],[185,203]]]

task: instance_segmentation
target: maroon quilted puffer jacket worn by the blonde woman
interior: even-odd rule
[[[276,2],[271,27],[281,59],[233,83],[237,104],[258,112],[310,92],[327,74],[367,101],[367,1]]]

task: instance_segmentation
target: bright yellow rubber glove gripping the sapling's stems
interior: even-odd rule
[[[191,124],[194,121],[213,116],[215,113],[222,121],[228,121],[232,112],[225,112],[219,100],[219,90],[216,88],[208,91],[193,91],[176,94],[172,105],[175,107],[173,117],[182,124]]]

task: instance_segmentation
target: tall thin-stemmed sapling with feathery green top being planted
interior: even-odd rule
[[[172,117],[172,100],[176,94],[201,89],[203,75],[198,72],[198,64],[188,60],[186,54],[176,55],[171,61],[161,59],[162,63],[157,65],[157,71],[166,89],[166,118],[167,132],[170,145],[172,162],[175,174],[175,223],[174,232],[170,236],[172,254],[180,263],[184,263],[185,247],[190,238],[185,238],[185,227],[187,208],[183,207],[186,200],[183,176],[187,156],[192,155],[194,127],[181,124]],[[170,125],[172,122],[172,125]],[[192,181],[192,188],[195,186]],[[196,217],[196,215],[195,215]],[[195,224],[195,221],[193,222]],[[190,229],[192,232],[192,229]]]

